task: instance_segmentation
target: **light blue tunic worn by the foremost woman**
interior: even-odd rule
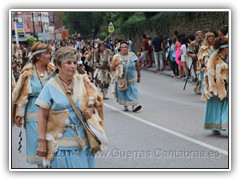
[[[79,107],[79,99],[77,98],[78,89],[76,77],[74,78],[74,94],[73,100],[76,103],[76,107]],[[67,124],[73,124],[77,126],[77,130],[67,126],[66,130],[62,134],[62,139],[75,139],[76,137],[86,138],[86,132],[74,112],[69,100],[64,95],[60,86],[56,80],[52,78],[40,93],[37,105],[44,109],[51,109],[55,111],[68,110],[70,117]],[[76,140],[76,139],[75,139]],[[82,150],[79,146],[58,146],[54,159],[51,161],[50,168],[95,168],[94,155],[90,152],[89,144],[86,144],[86,149]]]

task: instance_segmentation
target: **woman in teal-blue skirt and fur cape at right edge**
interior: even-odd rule
[[[202,100],[207,101],[204,127],[219,135],[228,129],[228,38],[216,38],[213,47],[216,54],[207,63]]]

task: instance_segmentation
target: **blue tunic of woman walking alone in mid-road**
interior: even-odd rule
[[[121,61],[123,65],[123,77],[126,73],[126,60],[127,56],[121,56]],[[138,87],[137,87],[137,72],[135,63],[138,60],[135,53],[131,52],[129,57],[130,63],[127,71],[127,89],[125,91],[119,91],[117,89],[117,78],[115,82],[115,96],[117,102],[124,106],[133,106],[139,104],[138,99]]]

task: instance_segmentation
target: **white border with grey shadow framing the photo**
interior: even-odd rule
[[[0,155],[0,171],[1,176],[7,179],[48,179],[50,178],[58,178],[58,179],[66,179],[69,177],[70,173],[35,173],[26,172],[26,173],[16,173],[9,171],[9,152],[11,151],[11,147],[9,147],[9,112],[10,112],[10,104],[9,104],[9,10],[10,9],[230,9],[231,10],[231,32],[229,33],[231,36],[231,124],[232,124],[232,142],[231,142],[231,172],[183,172],[183,173],[156,173],[156,172],[145,172],[145,173],[118,173],[120,176],[118,177],[132,177],[137,179],[156,179],[160,178],[168,178],[168,179],[175,179],[179,177],[184,177],[184,179],[194,178],[194,179],[203,179],[203,178],[211,178],[211,179],[235,179],[239,174],[239,153],[237,153],[237,149],[239,149],[239,120],[237,117],[240,117],[240,111],[237,109],[239,106],[239,92],[238,87],[238,78],[240,71],[238,71],[239,61],[237,60],[237,52],[238,52],[238,42],[240,40],[239,37],[239,20],[240,11],[239,5],[237,4],[238,1],[236,0],[201,0],[192,3],[193,1],[189,0],[169,0],[169,1],[159,1],[159,0],[149,0],[149,1],[129,1],[129,0],[121,0],[121,1],[106,1],[106,0],[87,0],[85,2],[80,2],[79,0],[68,0],[68,1],[49,1],[49,0],[41,0],[41,1],[29,1],[29,0],[21,0],[21,1],[14,1],[14,0],[7,0],[1,1],[1,15],[0,15],[0,22],[1,22],[1,29],[0,29],[0,36],[2,43],[0,43],[0,49],[4,56],[2,58],[2,65],[0,66],[0,77],[1,77],[1,97],[0,100],[0,111],[2,112],[2,121],[3,125],[1,126],[1,155]],[[6,63],[5,63],[6,62]],[[53,176],[54,175],[54,176]],[[77,173],[72,172],[75,178],[89,178],[92,175],[92,178],[98,179],[112,179],[116,176],[113,172],[104,172],[103,173]]]

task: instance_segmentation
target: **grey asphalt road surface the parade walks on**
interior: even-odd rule
[[[203,129],[205,103],[193,83],[142,71],[142,110],[124,112],[111,95],[105,101],[109,148],[98,153],[98,168],[228,168],[228,133]],[[17,143],[13,134],[13,143]],[[31,168],[12,146],[12,167]]]

